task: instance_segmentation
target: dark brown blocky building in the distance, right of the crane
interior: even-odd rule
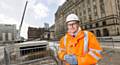
[[[43,39],[45,28],[28,27],[28,40]]]

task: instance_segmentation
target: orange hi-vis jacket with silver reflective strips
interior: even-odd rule
[[[67,33],[61,38],[58,57],[64,61],[65,54],[74,54],[78,65],[95,65],[102,58],[101,52],[102,48],[95,35],[88,31],[79,31],[76,37]],[[66,63],[66,65],[70,64]]]

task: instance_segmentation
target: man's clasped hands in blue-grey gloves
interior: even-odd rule
[[[64,60],[69,64],[77,64],[77,58],[75,55],[66,54]]]

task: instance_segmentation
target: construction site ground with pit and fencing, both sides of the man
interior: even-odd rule
[[[34,45],[33,45],[34,44]],[[104,42],[98,65],[120,65],[120,45]],[[118,46],[119,45],[119,46]],[[32,41],[1,48],[0,65],[65,65],[58,59],[58,42]],[[3,55],[2,55],[3,54]]]

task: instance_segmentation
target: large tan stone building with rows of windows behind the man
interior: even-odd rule
[[[80,18],[82,29],[97,37],[120,35],[119,0],[66,0],[55,13],[55,34],[58,38],[66,32],[65,19],[70,13]]]

